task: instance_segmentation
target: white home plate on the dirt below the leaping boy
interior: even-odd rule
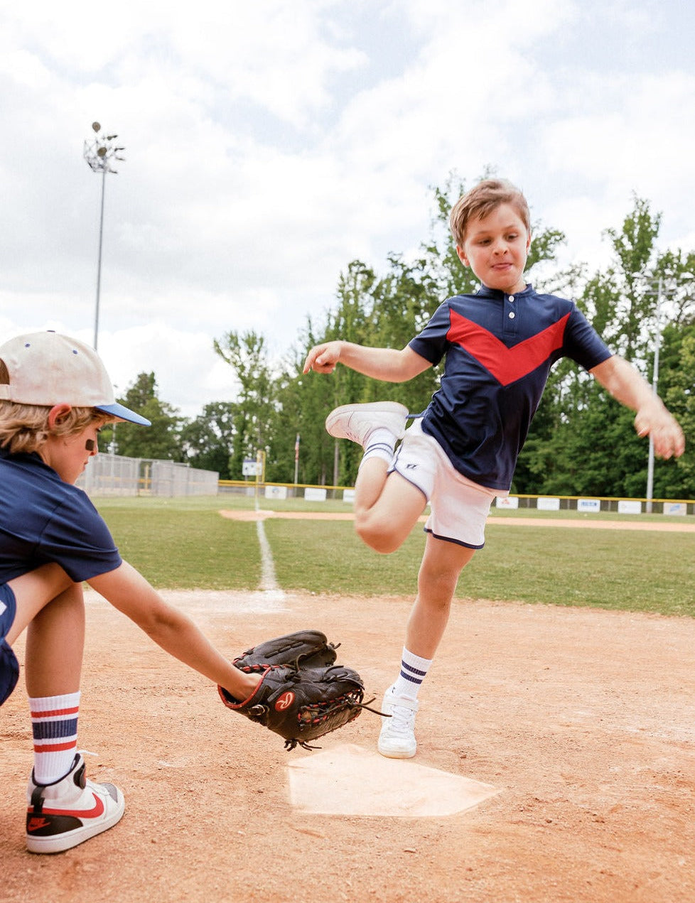
[[[292,805],[322,815],[455,815],[500,792],[354,744],[296,759],[287,771]]]

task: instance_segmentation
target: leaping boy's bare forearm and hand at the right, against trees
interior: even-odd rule
[[[680,424],[632,364],[615,354],[592,368],[590,373],[616,401],[637,412],[634,429],[639,436],[652,436],[654,453],[658,457],[681,457],[685,451],[685,437]]]

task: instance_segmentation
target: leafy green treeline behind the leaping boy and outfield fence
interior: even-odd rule
[[[354,260],[338,281],[333,310],[322,323],[309,319],[279,365],[255,332],[230,331],[214,347],[239,381],[235,401],[206,405],[193,421],[156,396],[155,375],[141,374],[126,405],[153,422],[149,430],[117,426],[117,451],[136,457],[190,461],[240,479],[244,458],[266,452],[266,479],[295,479],[299,436],[299,483],[352,485],[361,450],[335,442],[324,431],[325,415],[350,402],[392,399],[422,410],[437,389],[438,368],[408,383],[380,383],[339,366],[332,376],[302,376],[308,349],[323,340],[402,348],[446,297],[474,291],[476,283],[456,256],[446,228],[448,210],[465,186],[452,179],[435,191],[431,235],[415,260],[392,255],[386,270]],[[681,421],[689,448],[679,461],[658,461],[654,498],[695,498],[695,254],[656,246],[661,215],[634,198],[622,228],[606,229],[612,262],[587,274],[585,265],[560,270],[556,258],[564,235],[534,224],[527,275],[542,292],[577,299],[611,349],[653,380],[654,349],[661,331],[658,391]],[[553,369],[516,471],[513,491],[540,495],[643,498],[648,444],[633,429],[634,414],[618,405],[571,361]],[[108,442],[111,438],[104,431]]]

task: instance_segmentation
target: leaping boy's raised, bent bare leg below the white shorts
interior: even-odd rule
[[[427,499],[380,458],[369,458],[355,480],[355,531],[375,552],[395,552],[425,510]]]

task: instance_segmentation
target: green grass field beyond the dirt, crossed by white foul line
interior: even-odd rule
[[[253,498],[98,498],[121,554],[160,589],[256,590],[260,548],[255,522],[220,516],[252,510]],[[343,501],[258,499],[276,511],[351,511]],[[576,512],[511,512],[503,518],[578,517]],[[681,518],[582,515],[587,520],[638,520],[653,530],[490,523],[486,545],[459,581],[462,599],[517,600],[648,611],[695,617],[695,537],[656,527]],[[690,519],[689,519],[690,522]],[[398,552],[371,552],[350,521],[268,519],[265,534],[277,581],[287,591],[346,596],[412,596],[425,537],[416,526]]]

